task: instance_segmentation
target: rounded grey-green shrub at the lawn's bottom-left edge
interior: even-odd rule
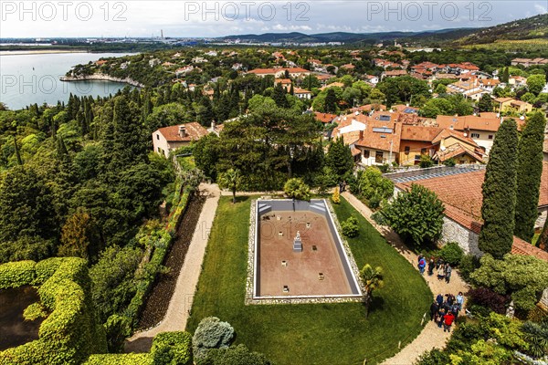
[[[233,338],[234,328],[227,322],[216,317],[202,319],[192,339],[195,359],[204,359],[209,349],[227,348]]]

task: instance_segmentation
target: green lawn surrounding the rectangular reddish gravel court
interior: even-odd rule
[[[360,235],[349,239],[359,267],[383,266],[385,287],[375,295],[368,318],[361,303],[245,306],[249,208],[221,197],[187,330],[216,316],[237,332],[236,343],[264,353],[276,364],[368,364],[393,356],[416,338],[432,294],[406,259],[342,197],[339,220],[355,216]]]

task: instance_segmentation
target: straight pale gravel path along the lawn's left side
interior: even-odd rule
[[[184,264],[177,277],[174,295],[169,302],[162,322],[154,328],[135,333],[126,340],[126,352],[146,352],[151,349],[153,337],[160,332],[184,330],[188,313],[192,307],[195,288],[204,261],[205,246],[213,224],[220,192],[216,185],[201,184],[200,192],[207,196],[204,208],[196,224],[195,233],[184,258]]]

